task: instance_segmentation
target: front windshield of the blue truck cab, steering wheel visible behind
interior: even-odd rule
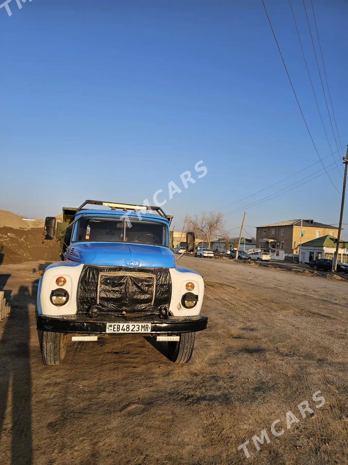
[[[76,222],[71,242],[140,242],[168,246],[167,231],[167,226],[155,221],[83,217]]]

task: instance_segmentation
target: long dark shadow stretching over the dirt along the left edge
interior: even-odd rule
[[[42,265],[47,266],[48,263]],[[40,266],[41,268],[41,266]],[[10,274],[0,274],[0,290]],[[29,286],[20,286],[18,293],[5,290],[11,302],[11,313],[2,321],[0,340],[0,439],[11,437],[11,465],[32,464],[32,380],[30,372],[29,306],[35,305],[39,279]],[[5,347],[7,350],[5,351]],[[7,430],[6,418],[12,418]]]

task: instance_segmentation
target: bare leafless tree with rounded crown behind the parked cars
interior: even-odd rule
[[[193,231],[202,236],[210,248],[210,241],[224,228],[224,215],[221,212],[202,212],[187,218],[187,231]]]

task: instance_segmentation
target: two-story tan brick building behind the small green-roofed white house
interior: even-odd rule
[[[286,254],[298,255],[301,242],[330,235],[337,237],[338,227],[317,223],[314,219],[291,219],[256,228],[256,246],[261,249],[283,249]]]

